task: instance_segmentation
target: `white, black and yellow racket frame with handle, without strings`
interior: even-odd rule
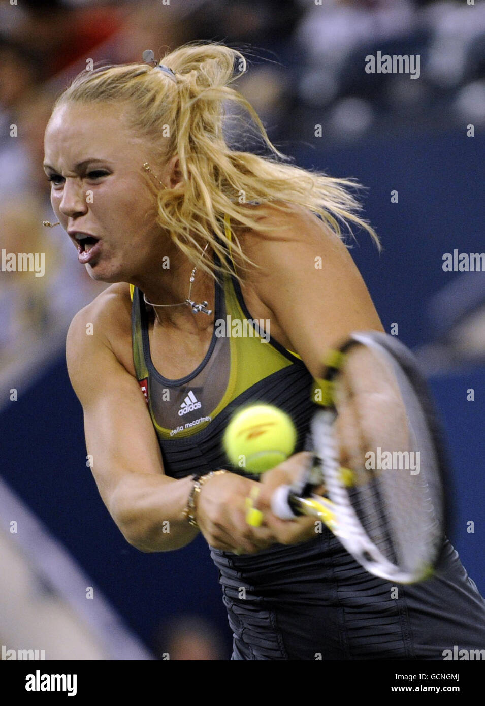
[[[321,378],[316,379],[316,385],[322,393],[321,402],[316,402],[316,404],[321,405],[322,409],[319,409],[311,420],[315,458],[321,465],[320,476],[318,477],[315,463],[313,463],[304,471],[297,484],[281,486],[278,489],[275,493],[272,509],[278,516],[284,514],[285,519],[290,515],[295,517],[302,514],[318,517],[340,539],[349,554],[352,554],[369,573],[391,582],[415,583],[425,580],[433,574],[434,568],[439,565],[441,559],[443,542],[440,546],[438,546],[438,542],[436,543],[435,555],[430,558],[429,563],[417,567],[414,571],[403,570],[400,566],[389,561],[378,549],[378,546],[372,542],[349,501],[345,484],[342,483],[342,469],[333,431],[333,424],[337,419],[333,390],[335,378],[345,361],[345,354],[359,345],[369,347],[378,354],[390,356],[405,373],[414,394],[417,396],[433,443],[438,473],[441,475],[442,497],[440,500],[444,540],[445,528],[448,526],[450,516],[450,503],[446,492],[449,487],[450,465],[445,451],[442,427],[433,407],[428,386],[419,371],[412,352],[405,345],[381,331],[354,332],[340,348],[332,350],[328,354],[323,374]],[[313,392],[315,389],[314,387]],[[311,486],[314,489],[319,484],[325,484],[328,497],[317,496],[309,492]],[[305,493],[301,492],[303,488],[306,490]]]

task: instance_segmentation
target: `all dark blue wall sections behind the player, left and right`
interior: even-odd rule
[[[426,302],[456,277],[443,273],[444,252],[483,249],[485,198],[483,137],[462,133],[368,140],[347,148],[294,150],[297,163],[369,187],[366,217],[380,234],[378,254],[359,234],[352,250],[386,330],[399,324],[400,339],[414,347],[426,340]],[[399,203],[390,192],[399,192]],[[474,273],[467,275],[473,277]],[[20,383],[16,385],[21,387]],[[484,512],[485,371],[431,381],[444,417],[455,469],[455,528],[451,535],[482,592]],[[467,388],[475,402],[467,402]],[[126,544],[100,499],[90,469],[80,405],[71,390],[64,358],[2,414],[2,474],[92,575],[112,604],[147,642],[155,626],[184,612],[212,618],[229,650],[229,629],[217,571],[202,539],[169,554],[141,554]],[[10,430],[10,431],[6,431]],[[466,531],[474,520],[475,532]]]

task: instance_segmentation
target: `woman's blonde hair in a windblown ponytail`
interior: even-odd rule
[[[212,276],[216,270],[234,274],[225,214],[233,227],[268,230],[258,210],[246,208],[246,202],[271,203],[285,213],[299,205],[319,215],[338,237],[342,237],[340,223],[350,234],[351,224],[357,225],[371,234],[380,249],[376,233],[359,216],[361,205],[350,191],[359,188],[357,181],[334,179],[285,163],[289,158],[270,142],[251,104],[231,87],[246,71],[241,52],[224,44],[197,42],[165,54],[160,63],[172,69],[174,76],[138,63],[83,71],[59,96],[54,109],[66,102],[127,104],[132,107],[128,112],[131,126],[152,140],[155,158],[168,161],[178,155],[183,188],[157,193],[157,222],[194,263],[205,244],[210,244],[221,267],[203,260],[200,269]],[[249,112],[272,152],[270,157],[235,151],[227,145],[223,132],[226,101]],[[230,252],[238,267],[253,265],[234,231],[231,240]]]

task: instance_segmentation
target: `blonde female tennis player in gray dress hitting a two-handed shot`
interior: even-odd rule
[[[282,159],[231,86],[235,64],[245,66],[239,52],[196,44],[161,64],[87,71],[47,126],[54,212],[90,276],[111,284],[67,339],[102,499],[141,551],[203,533],[232,659],[443,659],[453,645],[484,648],[484,601],[450,544],[435,578],[393,587],[312,518],[270,510],[272,491],[308,462],[323,353],[353,330],[383,330],[341,225],[376,235],[351,181]],[[249,111],[273,157],[229,148],[226,101]],[[234,321],[246,335],[229,335]],[[292,416],[301,441],[265,474],[263,523],[250,527],[245,501],[261,485],[227,468],[221,438],[234,409],[261,400]]]

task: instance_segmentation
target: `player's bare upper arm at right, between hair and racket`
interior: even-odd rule
[[[323,355],[355,330],[383,330],[344,243],[313,214],[272,210],[271,229],[245,238],[261,266],[253,287],[314,377]],[[278,224],[281,229],[273,229]],[[277,233],[277,235],[276,235]]]

